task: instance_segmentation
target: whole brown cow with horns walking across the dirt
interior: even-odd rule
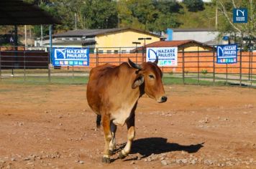
[[[134,117],[137,101],[143,94],[157,102],[165,102],[162,72],[155,62],[135,64],[129,59],[119,66],[104,64],[91,69],[87,85],[87,101],[97,114],[97,127],[101,117],[105,136],[105,149],[102,162],[110,163],[109,156],[115,148],[116,125],[127,124],[128,141],[119,153],[124,158],[131,150],[135,136]]]

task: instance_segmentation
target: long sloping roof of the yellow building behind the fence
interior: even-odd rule
[[[150,32],[144,32],[138,29],[132,29],[132,28],[113,28],[113,29],[78,29],[78,30],[72,30],[60,34],[53,34],[53,37],[83,37],[83,36],[96,36],[99,34],[109,34],[113,32],[120,32],[123,30],[134,30],[136,32],[142,32],[144,34],[150,34],[151,36],[160,37],[156,34],[151,34]]]

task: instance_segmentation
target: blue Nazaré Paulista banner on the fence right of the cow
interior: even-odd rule
[[[217,63],[232,64],[237,63],[237,44],[218,45]]]

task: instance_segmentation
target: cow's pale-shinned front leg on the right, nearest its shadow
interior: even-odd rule
[[[128,129],[127,145],[125,145],[124,149],[119,153],[119,158],[125,158],[131,151],[132,141],[134,140],[134,137],[135,137],[134,118],[135,118],[135,113],[133,112],[132,115],[127,120],[127,129]]]

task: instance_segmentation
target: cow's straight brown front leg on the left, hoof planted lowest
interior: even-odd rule
[[[104,136],[105,136],[105,148],[104,148],[104,155],[102,158],[103,163],[110,163],[109,158],[109,143],[112,138],[111,130],[110,130],[110,118],[109,115],[104,115],[102,120]]]

